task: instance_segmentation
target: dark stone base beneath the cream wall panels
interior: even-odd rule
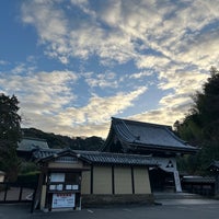
[[[82,195],[82,207],[95,207],[107,205],[124,204],[148,204],[154,203],[152,194],[134,194],[134,195]]]

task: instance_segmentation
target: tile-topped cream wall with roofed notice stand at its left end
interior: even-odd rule
[[[70,149],[38,150],[34,157],[42,170],[34,205],[42,210],[153,201],[151,157]]]

